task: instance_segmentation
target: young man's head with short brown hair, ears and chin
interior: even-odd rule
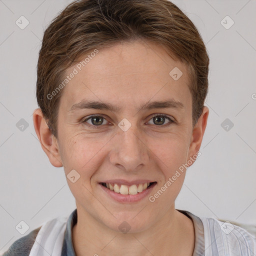
[[[74,1],[51,22],[33,121],[52,165],[64,167],[77,210],[139,231],[174,208],[180,166],[194,162],[206,127],[208,64],[199,32],[167,0]],[[145,181],[153,182],[147,195],[133,202],[103,187]]]

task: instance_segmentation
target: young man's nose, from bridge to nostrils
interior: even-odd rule
[[[110,162],[125,171],[137,171],[149,161],[149,149],[136,125],[123,131],[118,128],[111,143]]]

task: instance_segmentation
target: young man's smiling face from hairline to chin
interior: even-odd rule
[[[200,143],[186,66],[139,41],[101,49],[78,66],[66,70],[78,73],[62,91],[56,141],[65,174],[74,176],[67,183],[77,211],[113,230],[123,221],[145,230],[174,210],[185,170],[173,175]]]

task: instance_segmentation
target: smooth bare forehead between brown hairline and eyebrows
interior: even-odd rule
[[[88,55],[66,70],[66,75],[75,75],[64,87],[60,104],[70,108],[84,98],[114,101],[119,107],[150,99],[190,102],[186,65],[172,59],[159,44],[124,42]],[[175,80],[173,72],[182,75]]]

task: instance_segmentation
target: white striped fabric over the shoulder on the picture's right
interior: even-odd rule
[[[214,251],[230,256],[255,255],[256,238],[244,228],[212,217],[200,219],[204,229],[205,252],[208,250],[213,255]]]

